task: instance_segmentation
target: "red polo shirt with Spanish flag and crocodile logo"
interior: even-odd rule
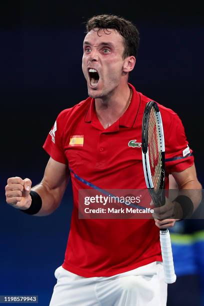
[[[84,277],[111,276],[162,260],[154,220],[78,218],[78,189],[91,184],[101,189],[146,188],[141,147],[128,142],[141,142],[142,115],[150,99],[129,86],[130,105],[111,126],[102,127],[94,99],[88,97],[59,113],[43,145],[53,159],[71,169],[73,212],[62,266]],[[193,156],[177,114],[162,105],[159,108],[168,175],[191,166]]]

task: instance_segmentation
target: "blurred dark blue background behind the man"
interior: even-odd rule
[[[200,2],[201,3],[201,2]],[[81,71],[84,22],[112,13],[131,20],[140,47],[130,82],[180,116],[203,185],[203,8],[199,2],[29,0],[0,3],[0,295],[38,295],[49,303],[63,261],[72,209],[70,184],[50,216],[32,217],[5,203],[8,177],[43,175],[42,144],[57,114],[87,97]],[[172,233],[178,280],[168,306],[204,305],[203,220]]]

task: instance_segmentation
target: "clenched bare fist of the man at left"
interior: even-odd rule
[[[29,194],[31,184],[29,178],[22,179],[18,176],[8,178],[5,186],[6,202],[15,208],[29,208],[32,201]]]

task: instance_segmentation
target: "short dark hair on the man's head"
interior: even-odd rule
[[[139,46],[139,32],[136,26],[123,17],[115,15],[97,15],[93,16],[86,22],[86,31],[98,28],[98,29],[115,29],[124,39],[124,52],[122,57],[135,56]],[[108,34],[108,32],[105,32]]]

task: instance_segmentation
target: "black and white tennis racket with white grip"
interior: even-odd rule
[[[156,207],[165,203],[164,195],[165,146],[163,126],[158,105],[149,101],[142,120],[142,163],[146,186]],[[176,279],[170,234],[167,228],[160,229],[160,245],[163,260],[164,281],[172,283]]]

